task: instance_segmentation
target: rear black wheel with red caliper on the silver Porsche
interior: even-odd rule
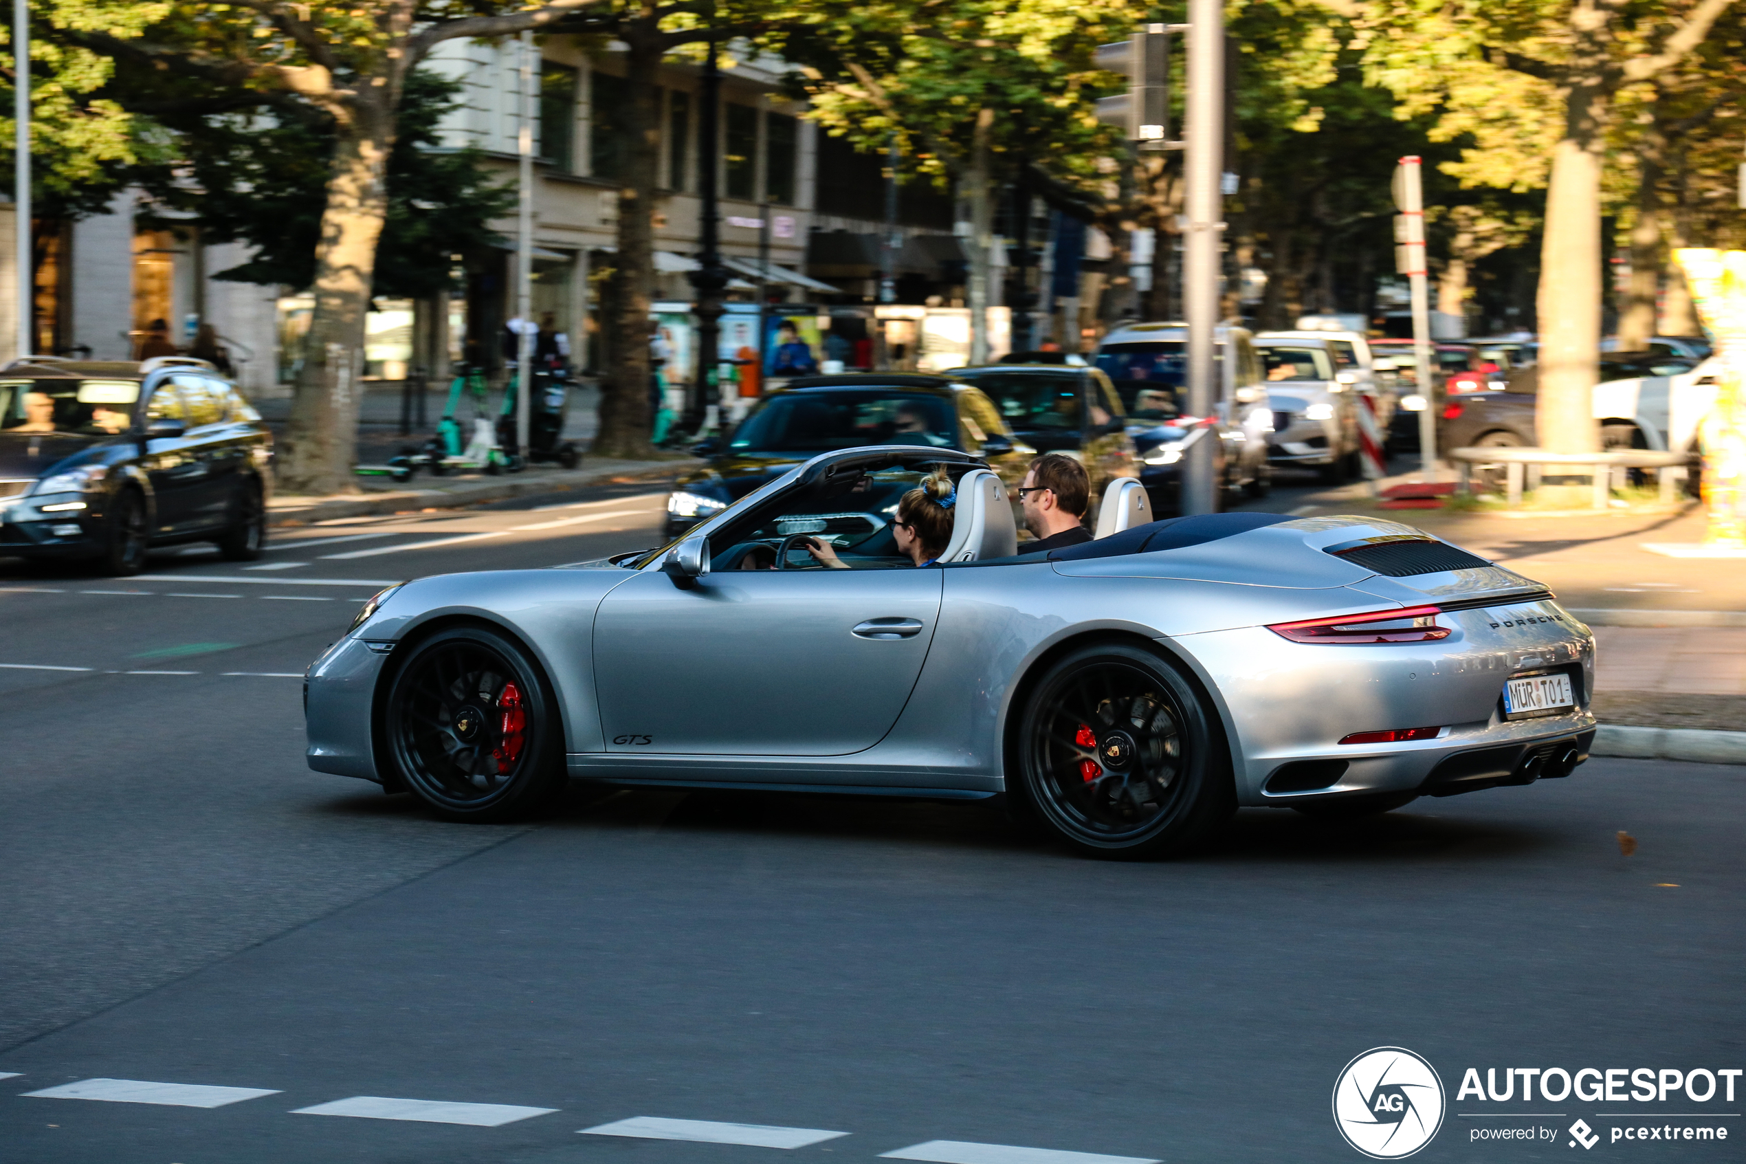
[[[1081,853],[1180,853],[1236,810],[1229,752],[1200,693],[1140,646],[1058,660],[1032,688],[1016,736],[1016,792]]]

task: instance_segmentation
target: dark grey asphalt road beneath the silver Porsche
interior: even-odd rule
[[[0,562],[0,1164],[1353,1161],[1329,1098],[1378,1045],[1447,1091],[1419,1159],[1585,1155],[1578,1117],[1596,1152],[1739,1157],[1606,1136],[1737,1141],[1746,1080],[1456,1099],[1468,1066],[1746,1068],[1737,768],[1598,759],[1355,825],[1245,810],[1151,866],[974,805],[576,787],[482,827],[307,771],[297,675],[379,583],[656,537],[650,485],[555,504],[119,583]],[[154,1101],[28,1094],[68,1084]],[[1472,1138],[1523,1126],[1557,1138]]]

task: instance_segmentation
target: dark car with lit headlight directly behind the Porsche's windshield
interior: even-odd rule
[[[882,372],[798,377],[760,400],[732,433],[693,447],[709,464],[674,483],[667,536],[677,537],[821,452],[861,445],[957,448],[986,461],[1007,492],[1037,455],[993,401],[964,380]]]

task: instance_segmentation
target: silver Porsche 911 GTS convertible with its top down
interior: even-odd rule
[[[952,543],[915,567],[892,524],[938,466]],[[660,550],[384,590],[309,667],[309,766],[454,820],[566,778],[1002,798],[1145,857],[1240,805],[1364,815],[1587,759],[1594,639],[1519,574],[1367,517],[1152,522],[1133,480],[1096,534],[1020,553],[967,454],[819,455]]]

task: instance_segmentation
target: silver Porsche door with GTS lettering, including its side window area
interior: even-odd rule
[[[857,501],[789,490],[747,517],[751,532],[721,534],[712,553],[726,564],[747,543],[843,529],[850,518],[889,541],[887,510],[910,485],[890,482]],[[639,572],[606,595],[594,621],[608,750],[845,756],[873,747],[922,672],[941,579],[939,569],[908,564],[719,569],[690,588]]]

